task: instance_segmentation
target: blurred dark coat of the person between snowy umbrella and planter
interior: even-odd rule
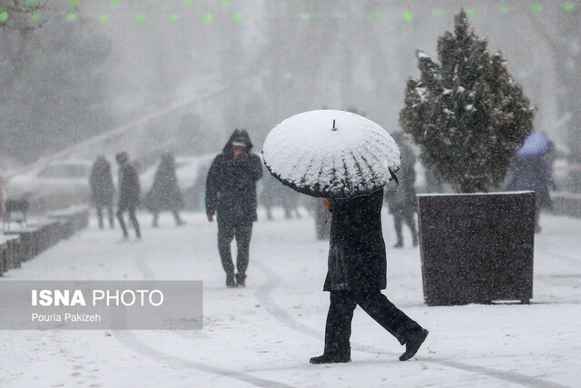
[[[401,166],[398,172],[398,185],[390,185],[386,190],[389,213],[405,217],[418,211],[416,200],[416,157],[407,144],[399,144]]]

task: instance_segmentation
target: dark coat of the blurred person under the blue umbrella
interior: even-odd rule
[[[552,208],[549,189],[553,185],[553,176],[548,158],[548,154],[516,157],[510,166],[507,190],[532,190],[537,207]]]

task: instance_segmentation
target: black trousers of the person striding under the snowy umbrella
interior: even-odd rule
[[[379,290],[331,291],[325,325],[325,354],[350,352],[351,320],[358,304],[401,344],[407,343],[421,330],[416,321],[389,302]]]

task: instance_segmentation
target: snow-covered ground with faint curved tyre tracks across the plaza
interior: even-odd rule
[[[306,215],[306,212],[303,211]],[[162,214],[143,242],[118,244],[119,229],[86,231],[5,279],[192,279],[204,285],[201,331],[0,331],[2,386],[579,386],[581,220],[543,215],[530,305],[427,307],[419,249],[391,249],[389,299],[430,330],[417,357],[359,308],[352,363],[311,365],[323,346],[329,294],[321,291],[327,244],[314,222],[255,224],[247,287],[227,289],[216,224]],[[133,231],[130,231],[133,232]],[[406,231],[407,232],[407,231]],[[406,234],[409,244],[409,234]]]

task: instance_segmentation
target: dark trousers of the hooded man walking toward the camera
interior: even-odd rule
[[[234,264],[232,263],[230,246],[234,237],[236,237],[236,247],[238,250],[236,269],[238,270],[238,274],[241,274],[242,276],[246,274],[251,247],[251,235],[251,220],[218,220],[218,252],[220,252],[222,267],[226,274],[234,274]]]

